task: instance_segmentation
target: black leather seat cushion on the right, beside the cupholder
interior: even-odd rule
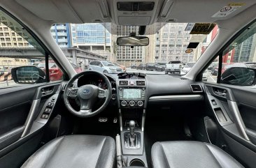
[[[202,142],[156,142],[151,150],[155,168],[241,168],[222,149]]]

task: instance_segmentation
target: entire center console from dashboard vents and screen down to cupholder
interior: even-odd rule
[[[120,146],[126,166],[147,167],[144,148],[146,80],[143,73],[118,75],[117,93],[120,121]],[[134,161],[135,160],[135,161]]]

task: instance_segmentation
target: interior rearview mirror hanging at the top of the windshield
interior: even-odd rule
[[[145,36],[126,36],[118,38],[116,43],[120,46],[147,46],[149,39]]]

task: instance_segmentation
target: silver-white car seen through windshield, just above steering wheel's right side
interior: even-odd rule
[[[89,70],[96,70],[103,73],[120,73],[123,72],[122,68],[115,66],[113,63],[108,61],[91,61],[89,63]]]

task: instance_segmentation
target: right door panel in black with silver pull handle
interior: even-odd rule
[[[205,89],[229,150],[246,167],[255,166],[256,91],[227,84],[205,84]]]

